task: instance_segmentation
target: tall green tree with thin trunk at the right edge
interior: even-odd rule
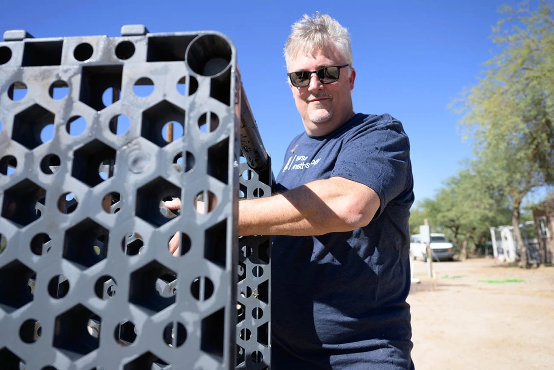
[[[530,4],[502,8],[507,17],[493,30],[502,51],[459,100],[460,127],[474,139],[480,175],[509,199],[524,267],[529,264],[519,229],[522,201],[554,182],[554,7]]]

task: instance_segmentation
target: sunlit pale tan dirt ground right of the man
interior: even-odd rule
[[[554,267],[469,259],[433,268],[430,279],[427,264],[413,262],[416,369],[554,370]]]

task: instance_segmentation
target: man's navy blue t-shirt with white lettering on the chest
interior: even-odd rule
[[[390,115],[356,114],[335,132],[294,138],[277,177],[284,192],[339,176],[381,199],[352,232],[274,237],[271,259],[272,368],[413,369],[409,142]]]

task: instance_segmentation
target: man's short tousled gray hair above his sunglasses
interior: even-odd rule
[[[342,53],[352,68],[352,48],[348,30],[327,14],[316,12],[311,17],[304,14],[302,19],[291,26],[289,38],[286,39],[286,65],[288,66],[289,61],[299,52],[307,55],[316,49],[324,50],[329,47],[335,47]]]

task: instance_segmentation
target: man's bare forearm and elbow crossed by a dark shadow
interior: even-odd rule
[[[381,205],[364,184],[317,180],[283,194],[239,202],[240,235],[322,235],[370,223]]]

